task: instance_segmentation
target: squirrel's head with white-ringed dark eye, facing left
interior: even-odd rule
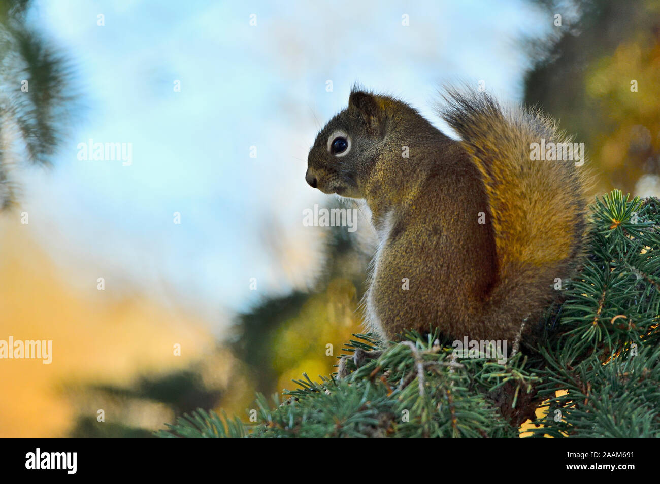
[[[387,104],[394,102],[352,91],[348,107],[316,136],[307,158],[307,183],[323,193],[364,198],[364,179],[378,160],[387,134]]]

